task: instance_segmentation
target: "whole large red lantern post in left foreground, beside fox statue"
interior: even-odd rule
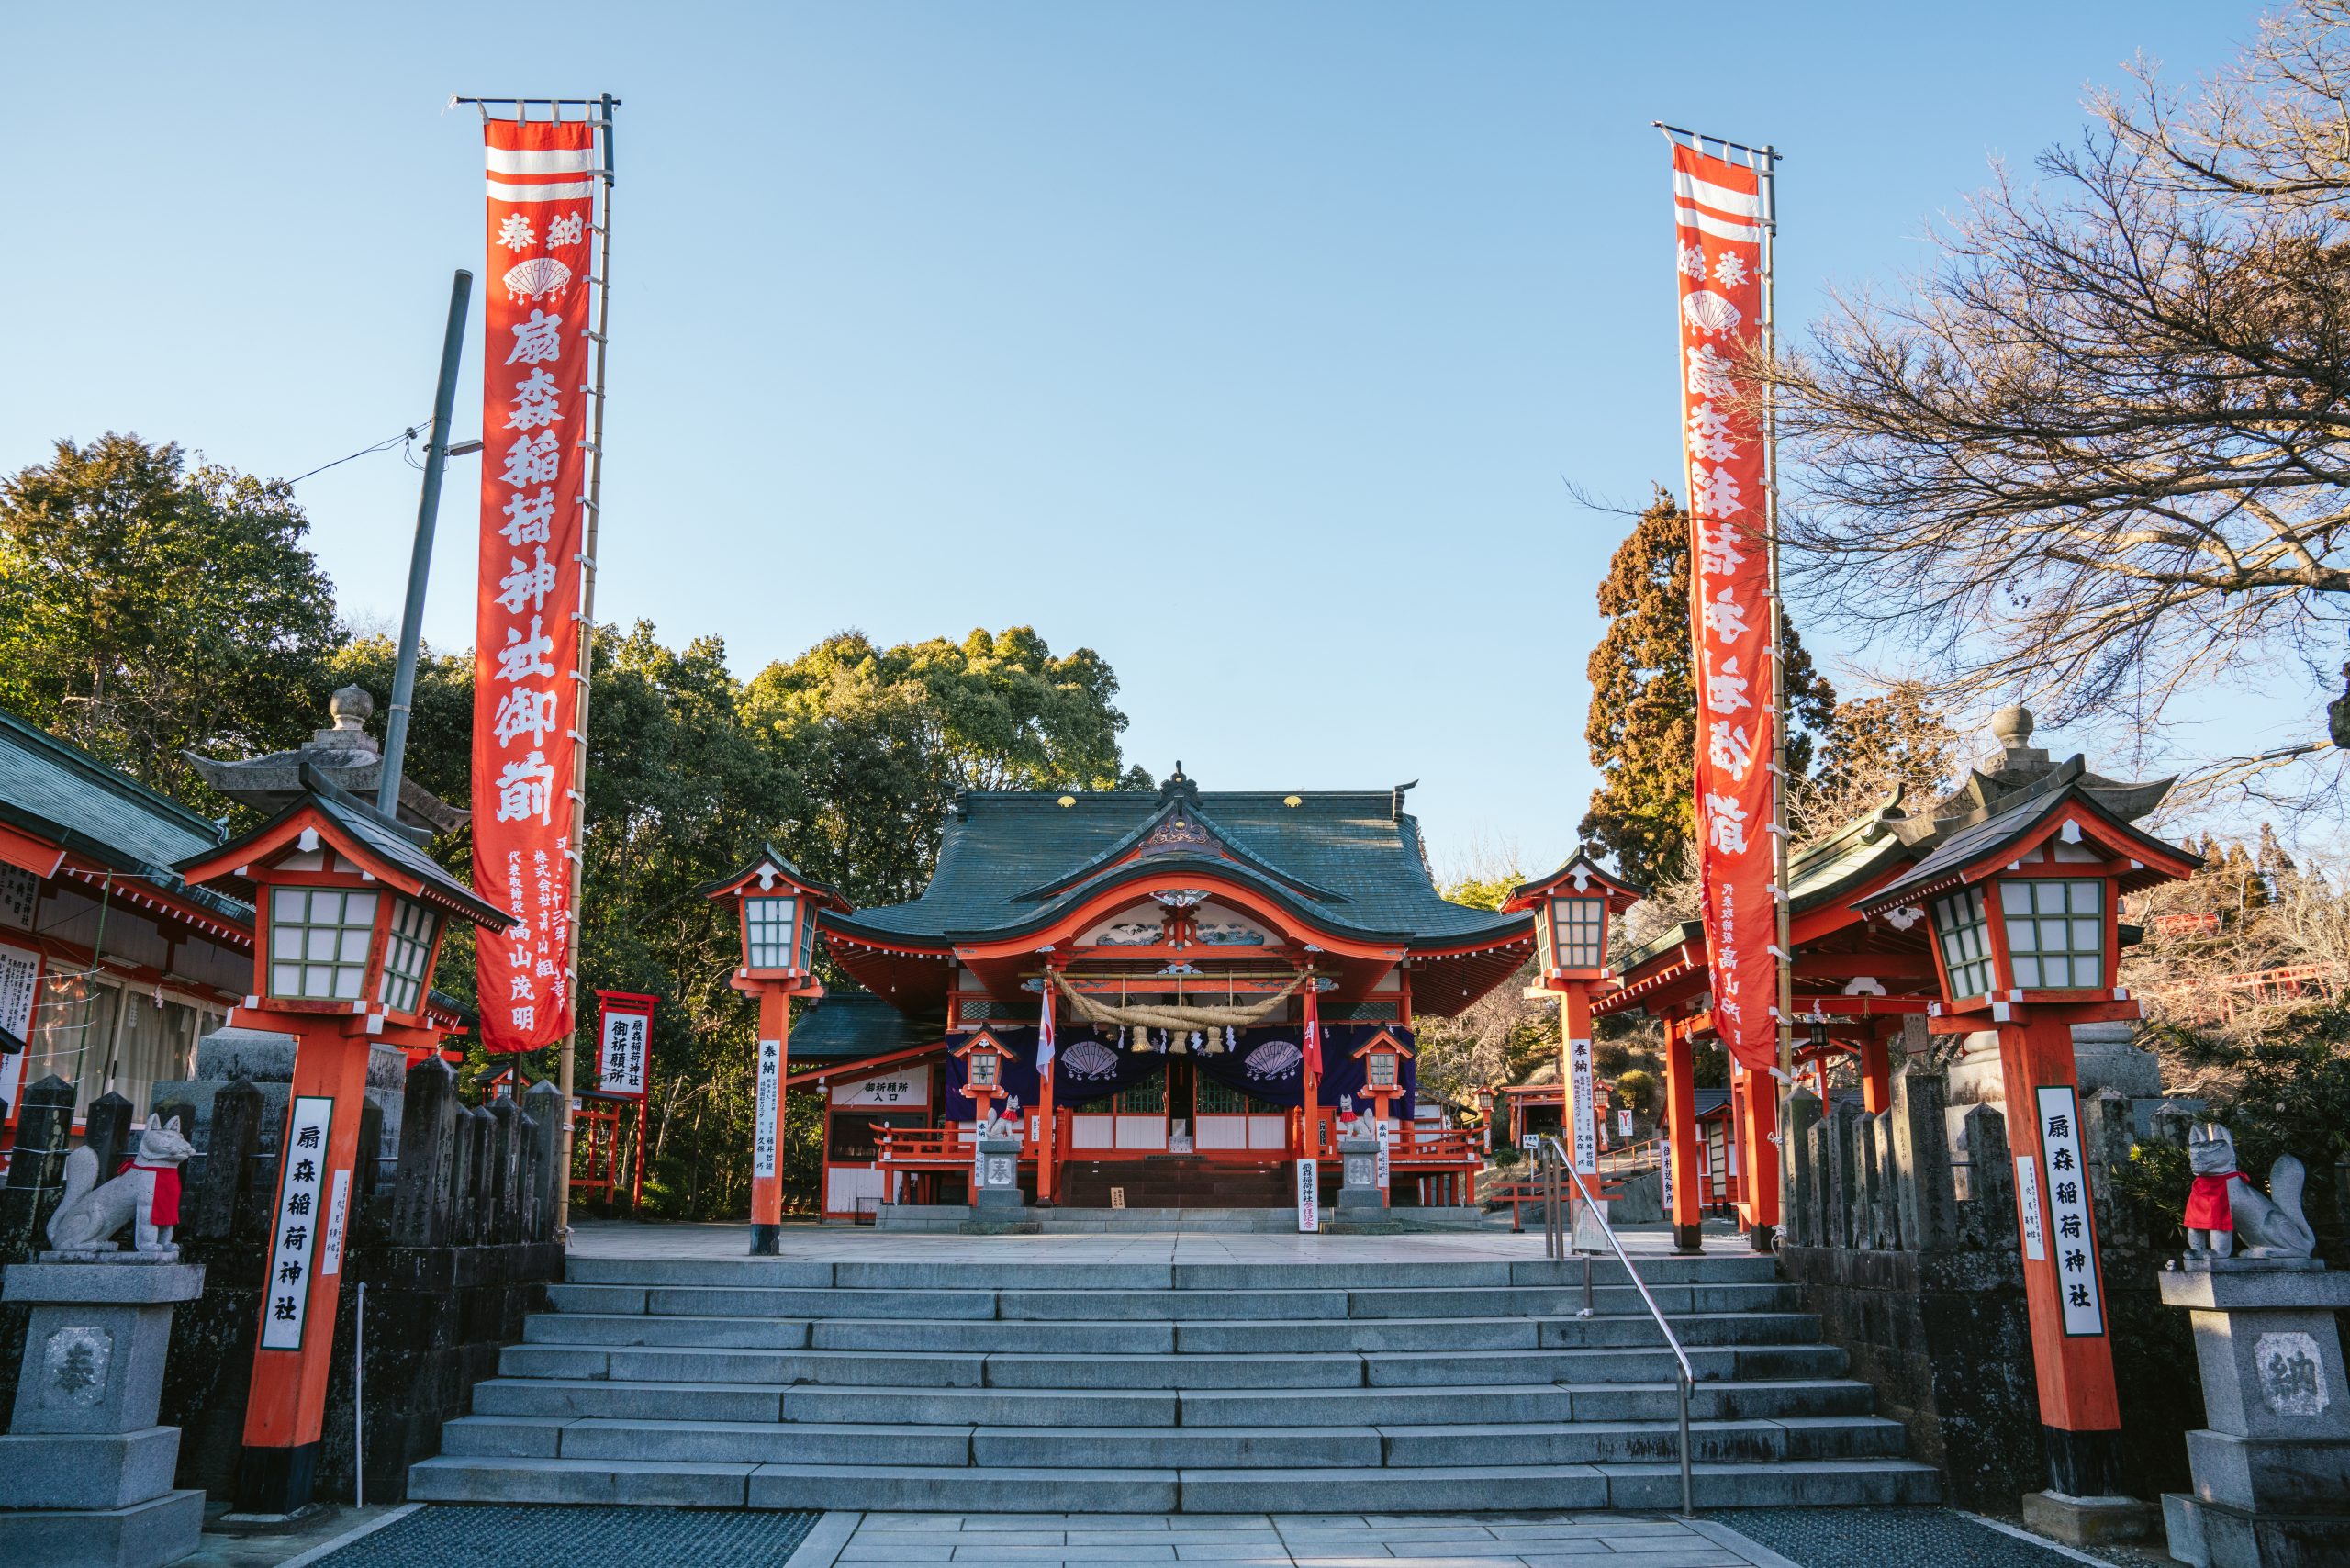
[[[179,865],[190,884],[254,900],[254,990],[228,1023],[296,1039],[237,1455],[240,1514],[310,1502],[369,1046],[437,1048],[425,999],[446,922],[508,924],[432,863],[428,832],[308,766],[303,785],[303,799],[263,827]]]

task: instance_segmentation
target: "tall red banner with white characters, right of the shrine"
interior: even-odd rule
[[[1697,877],[1713,1023],[1751,1072],[1779,1058],[1772,957],[1772,672],[1762,428],[1739,362],[1762,331],[1755,172],[1673,143],[1680,425],[1697,651]]]

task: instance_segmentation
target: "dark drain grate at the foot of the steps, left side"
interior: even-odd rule
[[[432,1502],[317,1568],[780,1568],[820,1514]],[[1882,1568],[1882,1566],[1875,1566]]]

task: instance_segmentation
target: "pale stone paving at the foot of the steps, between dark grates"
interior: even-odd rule
[[[1788,1568],[1713,1521],[1645,1514],[827,1514],[792,1568]]]

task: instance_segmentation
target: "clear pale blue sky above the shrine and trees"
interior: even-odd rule
[[[294,475],[430,409],[482,155],[451,92],[616,92],[604,618],[754,672],[1032,623],[1208,788],[1570,846],[1584,658],[1678,470],[1664,118],[1777,141],[1781,313],[2237,0],[16,7],[0,468],[136,430]],[[475,343],[479,322],[475,322]],[[479,423],[468,355],[456,430]],[[472,482],[428,639],[472,639]],[[397,618],[416,475],[301,487]],[[2280,738],[2291,738],[2280,731]],[[2059,738],[2052,738],[2061,743]]]

